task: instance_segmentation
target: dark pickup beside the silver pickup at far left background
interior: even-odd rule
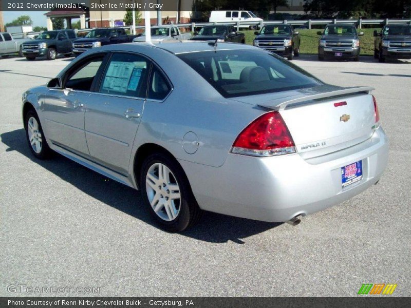
[[[38,56],[46,56],[47,60],[54,60],[58,54],[71,55],[71,45],[76,38],[74,30],[45,31],[35,40],[23,43],[22,52],[29,61]]]

